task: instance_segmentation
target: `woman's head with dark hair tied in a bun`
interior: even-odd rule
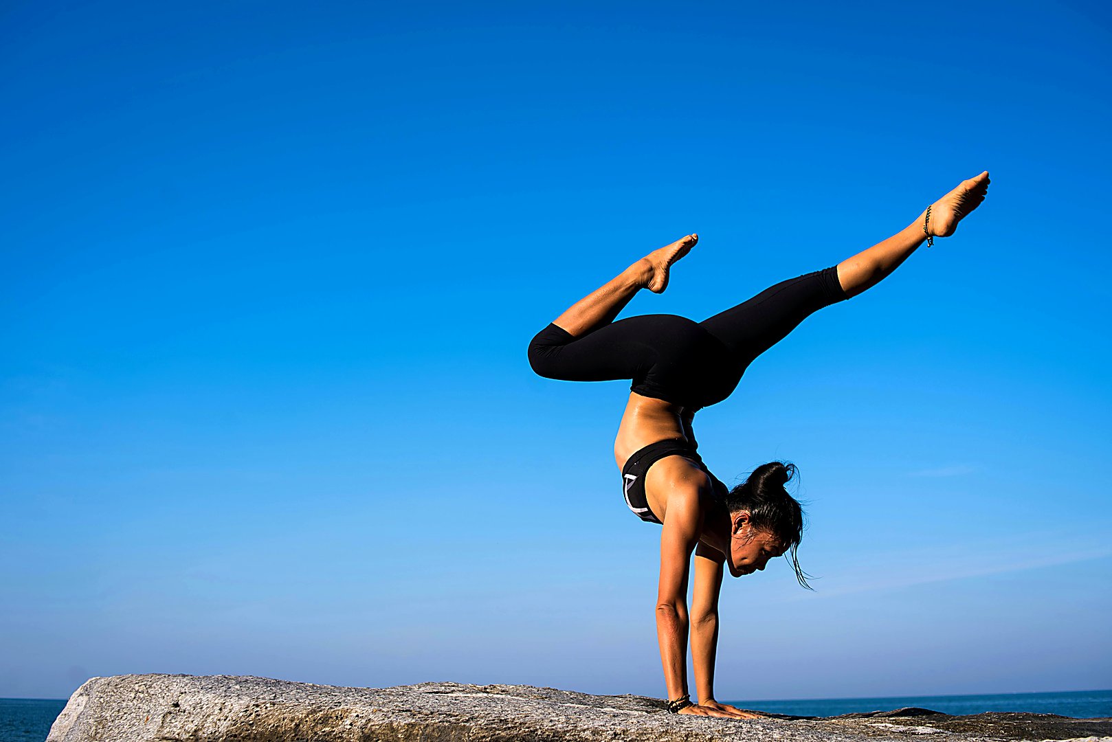
[[[764,570],[768,560],[786,553],[795,578],[811,590],[796,556],[803,540],[803,508],[784,486],[796,474],[795,464],[768,462],[726,495],[735,576]]]

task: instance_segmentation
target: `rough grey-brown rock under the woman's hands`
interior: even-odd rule
[[[367,689],[229,675],[117,675],[79,687],[47,742],[502,742],[509,740],[907,740],[1112,742],[1112,720],[1052,714],[951,716],[901,709],[827,719],[738,721],[667,713],[639,695],[529,685],[420,683]]]

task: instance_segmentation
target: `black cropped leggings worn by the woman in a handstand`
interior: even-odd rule
[[[629,378],[637,394],[699,409],[728,397],[748,365],[804,318],[846,298],[830,267],[781,281],[701,323],[641,315],[579,337],[548,325],[529,344],[529,365],[566,382]]]

